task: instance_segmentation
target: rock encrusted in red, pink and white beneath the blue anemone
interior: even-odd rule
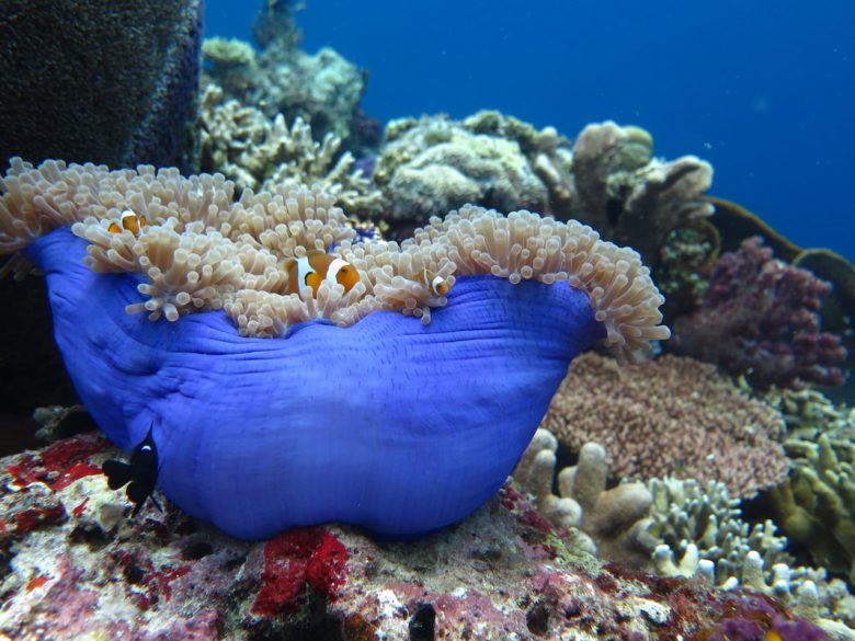
[[[169,503],[127,518],[130,505],[98,472],[117,455],[78,437],[0,460],[1,634],[676,640],[743,619],[761,632],[819,633],[773,599],[601,566],[563,546],[511,488],[418,542],[328,526],[246,543]],[[15,512],[22,503],[26,517]]]

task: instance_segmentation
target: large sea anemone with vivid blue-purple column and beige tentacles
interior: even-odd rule
[[[362,239],[330,195],[233,201],[223,175],[13,160],[0,188],[0,250],[45,272],[94,421],[123,447],[150,436],[164,494],[242,538],[463,518],[578,353],[669,335],[636,252],[528,211],[464,207],[397,244]],[[358,282],[289,294],[285,264],[316,250]]]

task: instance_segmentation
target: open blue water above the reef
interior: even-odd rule
[[[258,8],[208,0],[206,33],[249,39]],[[711,194],[855,260],[855,2],[307,0],[297,19],[305,49],[369,70],[363,108],[381,122],[640,125],[657,154],[709,160]]]

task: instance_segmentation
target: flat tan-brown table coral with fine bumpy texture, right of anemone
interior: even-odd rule
[[[663,356],[618,367],[584,354],[561,384],[543,427],[573,451],[590,440],[602,443],[618,478],[718,480],[736,496],[750,497],[787,472],[776,442],[780,414],[691,358]]]

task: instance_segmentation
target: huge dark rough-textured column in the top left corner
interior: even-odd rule
[[[195,169],[200,0],[13,0],[0,21],[0,162],[22,156]],[[92,43],[98,43],[96,47]],[[45,100],[49,94],[50,100]]]

